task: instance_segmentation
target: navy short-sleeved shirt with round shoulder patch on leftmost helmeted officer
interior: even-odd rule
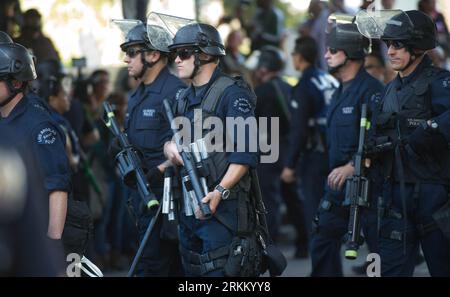
[[[65,136],[48,111],[24,96],[0,125],[14,131],[11,143],[31,150],[45,176],[45,189],[70,192],[70,168],[64,149]]]

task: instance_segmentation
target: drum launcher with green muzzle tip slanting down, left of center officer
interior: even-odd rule
[[[158,199],[150,189],[136,151],[128,141],[126,134],[120,130],[111,105],[108,102],[103,102],[103,108],[108,119],[108,121],[105,121],[105,125],[119,140],[122,149],[116,156],[116,164],[124,183],[130,187],[137,186],[139,196],[148,209],[157,208],[159,205]]]

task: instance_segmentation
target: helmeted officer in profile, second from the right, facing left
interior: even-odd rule
[[[327,113],[327,148],[330,173],[319,204],[311,239],[312,276],[342,276],[340,247],[348,226],[348,207],[343,206],[345,181],[353,175],[361,106],[380,97],[381,83],[364,69],[369,41],[356,25],[338,23],[328,34],[325,59],[340,80]],[[367,218],[367,216],[366,216]],[[376,216],[374,217],[376,218]],[[370,227],[375,223],[368,224]],[[364,230],[369,249],[376,247],[376,228]]]

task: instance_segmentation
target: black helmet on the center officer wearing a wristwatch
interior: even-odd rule
[[[198,47],[211,56],[225,56],[225,46],[216,28],[208,24],[193,23],[181,27],[175,34],[169,49],[180,47]]]

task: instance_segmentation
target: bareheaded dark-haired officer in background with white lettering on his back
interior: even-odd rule
[[[284,161],[281,179],[292,183],[296,169],[305,201],[305,221],[310,231],[311,222],[328,174],[326,153],[326,115],[331,96],[339,82],[316,66],[317,44],[311,37],[300,37],[295,41],[292,59],[302,77],[291,95],[291,125],[288,136],[289,149]],[[300,164],[298,164],[301,158]]]

